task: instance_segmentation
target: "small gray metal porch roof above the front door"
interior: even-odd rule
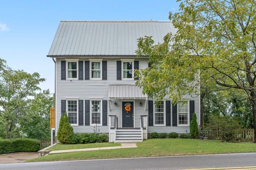
[[[109,85],[108,98],[135,99],[148,98],[147,94],[142,93],[142,89],[136,85]]]

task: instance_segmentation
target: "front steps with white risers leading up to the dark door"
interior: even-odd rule
[[[117,129],[115,142],[142,142],[140,129]]]

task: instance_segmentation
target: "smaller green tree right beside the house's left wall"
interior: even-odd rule
[[[50,109],[54,106],[54,96],[49,89],[35,95],[28,110],[18,120],[20,129],[26,138],[51,139]]]

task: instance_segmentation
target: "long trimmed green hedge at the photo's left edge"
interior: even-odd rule
[[[40,141],[35,139],[17,138],[0,140],[0,154],[14,152],[37,152]]]

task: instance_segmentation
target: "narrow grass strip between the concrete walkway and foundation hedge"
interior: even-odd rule
[[[121,146],[120,143],[102,142],[102,143],[87,143],[87,144],[56,144],[47,150],[67,150],[67,149],[83,149],[92,147],[110,147]]]

